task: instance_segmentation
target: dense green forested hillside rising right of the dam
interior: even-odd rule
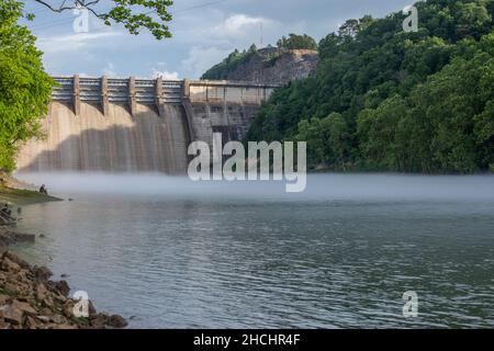
[[[349,20],[319,43],[312,77],[278,90],[249,140],[308,143],[334,170],[494,170],[494,1],[416,3],[405,14]]]

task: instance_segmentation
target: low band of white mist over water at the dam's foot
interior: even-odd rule
[[[200,181],[159,173],[20,173],[53,195],[112,194],[260,201],[493,200],[494,176],[310,174],[307,189],[287,193],[284,181]]]

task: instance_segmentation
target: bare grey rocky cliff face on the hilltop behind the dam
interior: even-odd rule
[[[284,84],[308,77],[315,71],[318,61],[319,57],[315,50],[263,48],[229,72],[226,79]]]

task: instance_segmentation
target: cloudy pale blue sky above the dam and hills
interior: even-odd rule
[[[27,26],[44,52],[46,70],[54,76],[197,79],[235,48],[258,47],[290,33],[319,41],[347,19],[383,16],[413,0],[176,0],[170,8],[172,38],[135,36],[123,26],[105,26],[89,16],[89,31],[77,33],[72,12],[53,13],[25,0],[36,15]],[[52,3],[61,3],[52,0]],[[103,0],[103,7],[111,0]]]

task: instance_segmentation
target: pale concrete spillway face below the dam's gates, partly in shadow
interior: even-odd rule
[[[20,151],[20,172],[109,171],[184,173],[189,135],[181,105],[110,104],[108,114],[89,103],[76,115],[71,106],[53,102],[43,120],[44,140],[31,140]]]

